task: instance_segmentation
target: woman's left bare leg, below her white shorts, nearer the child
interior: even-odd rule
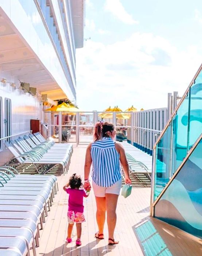
[[[97,212],[96,219],[98,225],[98,234],[103,234],[104,224],[105,224],[105,215],[106,215],[106,199],[105,197],[96,196]],[[100,236],[103,238],[104,236]]]

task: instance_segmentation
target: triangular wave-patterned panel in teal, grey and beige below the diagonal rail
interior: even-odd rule
[[[202,238],[201,152],[202,139],[154,208],[156,218],[200,238]]]

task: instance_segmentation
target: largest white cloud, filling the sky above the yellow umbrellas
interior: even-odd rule
[[[167,93],[182,95],[202,56],[194,46],[178,51],[166,39],[134,33],[110,45],[87,41],[77,49],[77,103],[100,110],[167,106]]]

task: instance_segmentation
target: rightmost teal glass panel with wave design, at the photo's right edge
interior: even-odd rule
[[[195,79],[195,83],[190,88],[190,110],[184,116],[183,123],[189,121],[189,144],[188,150],[193,146],[202,131],[202,71]]]

